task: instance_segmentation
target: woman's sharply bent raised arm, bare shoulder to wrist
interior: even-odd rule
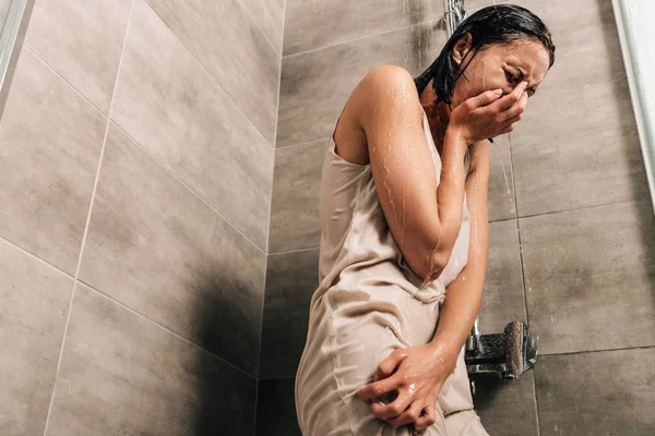
[[[497,100],[493,92],[467,101],[466,110]],[[448,264],[462,225],[468,138],[449,128],[437,175],[422,128],[420,101],[404,69],[373,69],[353,93],[366,134],[371,171],[391,234],[414,272],[434,280]],[[490,118],[490,117],[487,117]]]

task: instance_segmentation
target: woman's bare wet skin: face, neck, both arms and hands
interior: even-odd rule
[[[471,38],[465,36],[452,56],[468,66],[456,83],[450,106],[434,102],[431,83],[418,96],[415,87],[412,94],[413,82],[403,77],[400,68],[382,66],[355,89],[334,134],[337,155],[371,165],[390,231],[403,255],[412,259],[412,269],[426,282],[438,278],[450,258],[464,194],[472,217],[467,263],[448,287],[434,339],[426,346],[396,350],[380,363],[373,383],[358,392],[371,403],[377,417],[394,426],[425,428],[434,423],[439,391],[454,371],[484,289],[489,174],[484,141],[514,129],[549,66],[548,52],[532,39],[487,46],[471,59]],[[429,154],[422,149],[427,147],[420,128],[422,114],[415,104],[424,108],[442,158],[439,184],[431,174]],[[472,165],[464,173],[466,149]],[[377,401],[389,393],[395,396],[392,402]]]

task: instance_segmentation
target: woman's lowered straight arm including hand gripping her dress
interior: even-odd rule
[[[373,414],[393,425],[414,423],[417,429],[436,421],[434,402],[441,386],[455,368],[457,356],[477,316],[487,268],[489,148],[472,147],[472,167],[466,178],[466,199],[471,213],[468,261],[449,284],[433,340],[424,347],[395,350],[378,366],[376,382],[359,390],[359,397],[373,400],[397,391],[390,404],[373,402]]]

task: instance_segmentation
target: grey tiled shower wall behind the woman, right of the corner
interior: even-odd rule
[[[541,358],[480,383],[491,435],[651,435],[655,219],[610,0],[519,0],[557,62],[491,150],[483,329],[529,322]],[[469,12],[492,0],[466,0]],[[294,375],[318,281],[318,186],[331,130],[372,66],[418,74],[444,43],[441,1],[287,0],[257,433],[298,434]],[[508,183],[503,175],[508,174]],[[508,186],[509,184],[509,186]]]

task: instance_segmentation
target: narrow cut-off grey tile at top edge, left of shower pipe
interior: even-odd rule
[[[284,56],[343,44],[443,15],[433,0],[287,0]]]

